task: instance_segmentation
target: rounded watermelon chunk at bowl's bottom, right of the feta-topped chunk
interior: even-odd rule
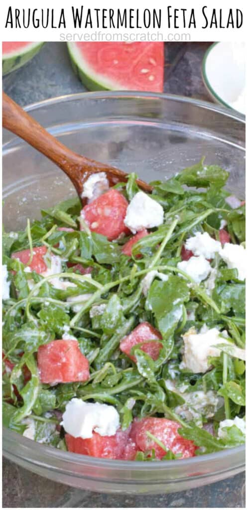
[[[179,423],[166,418],[142,418],[132,424],[130,437],[136,444],[137,449],[147,452],[154,449],[157,458],[161,459],[165,451],[155,441],[147,437],[147,431],[151,432],[166,449],[174,454],[181,453],[180,458],[193,457],[196,446],[193,441],[182,438],[178,433]]]

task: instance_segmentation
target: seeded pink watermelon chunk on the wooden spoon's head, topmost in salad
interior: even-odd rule
[[[114,189],[88,203],[81,211],[81,216],[92,232],[106,236],[110,241],[120,234],[128,234],[124,224],[128,201]]]

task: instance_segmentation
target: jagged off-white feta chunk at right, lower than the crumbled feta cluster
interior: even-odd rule
[[[221,335],[227,336],[226,331]],[[208,356],[220,356],[220,350],[215,347],[218,344],[229,344],[230,342],[220,336],[216,327],[208,329],[204,333],[196,333],[194,328],[190,328],[185,335],[183,366],[188,368],[194,374],[205,373],[209,370]]]

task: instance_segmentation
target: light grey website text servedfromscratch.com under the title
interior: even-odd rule
[[[89,33],[61,33],[60,41],[112,41],[112,42],[135,42],[135,41],[190,41],[190,34],[175,33],[175,34],[162,34],[161,32],[136,32],[136,33],[123,33],[112,34],[101,32],[100,30]]]

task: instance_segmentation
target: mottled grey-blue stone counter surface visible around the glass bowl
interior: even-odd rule
[[[167,43],[164,92],[209,100],[201,77],[208,43]],[[20,105],[85,90],[73,74],[65,43],[46,43],[26,66],[3,79]],[[180,462],[180,461],[179,461]],[[244,508],[244,474],[194,490],[157,496],[110,495],[72,489],[3,461],[4,508]]]

